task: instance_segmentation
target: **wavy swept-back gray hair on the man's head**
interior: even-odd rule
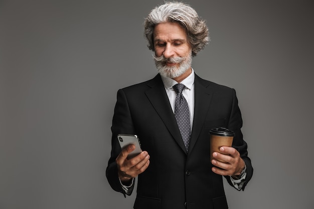
[[[144,37],[148,49],[154,51],[153,30],[160,23],[179,23],[186,31],[187,39],[192,48],[192,56],[205,48],[210,41],[208,28],[196,11],[189,5],[180,2],[167,2],[155,7],[144,22]]]

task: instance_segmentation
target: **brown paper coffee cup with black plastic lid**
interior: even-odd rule
[[[213,157],[213,152],[220,152],[220,147],[222,146],[232,146],[232,141],[234,137],[234,132],[227,128],[213,128],[209,131],[210,135],[210,144],[211,144],[211,160],[216,159]],[[218,160],[218,159],[216,159]],[[223,160],[218,160],[221,162],[225,162]]]

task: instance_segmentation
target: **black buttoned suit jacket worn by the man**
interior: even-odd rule
[[[228,208],[222,176],[212,172],[209,130],[227,127],[235,132],[233,147],[247,166],[245,185],[253,168],[240,128],[242,118],[234,89],[195,75],[195,110],[189,152],[186,152],[160,75],[117,93],[112,120],[112,151],[106,170],[111,187],[124,193],[115,158],[117,134],[136,134],[150,155],[148,168],[138,175],[134,208]],[[230,185],[230,178],[227,176]]]

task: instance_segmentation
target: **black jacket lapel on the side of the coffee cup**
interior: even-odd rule
[[[189,147],[189,153],[191,153],[194,145],[200,135],[200,132],[203,128],[204,121],[209,109],[209,105],[212,98],[212,91],[210,88],[207,88],[209,84],[204,82],[203,79],[195,75],[194,80],[194,120],[193,128],[191,133],[191,141]]]

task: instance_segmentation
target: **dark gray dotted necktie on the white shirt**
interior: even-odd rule
[[[177,92],[175,118],[177,120],[184,145],[188,151],[191,138],[190,111],[188,102],[182,94],[182,91],[186,88],[186,86],[183,84],[176,84],[173,86],[173,88]]]

